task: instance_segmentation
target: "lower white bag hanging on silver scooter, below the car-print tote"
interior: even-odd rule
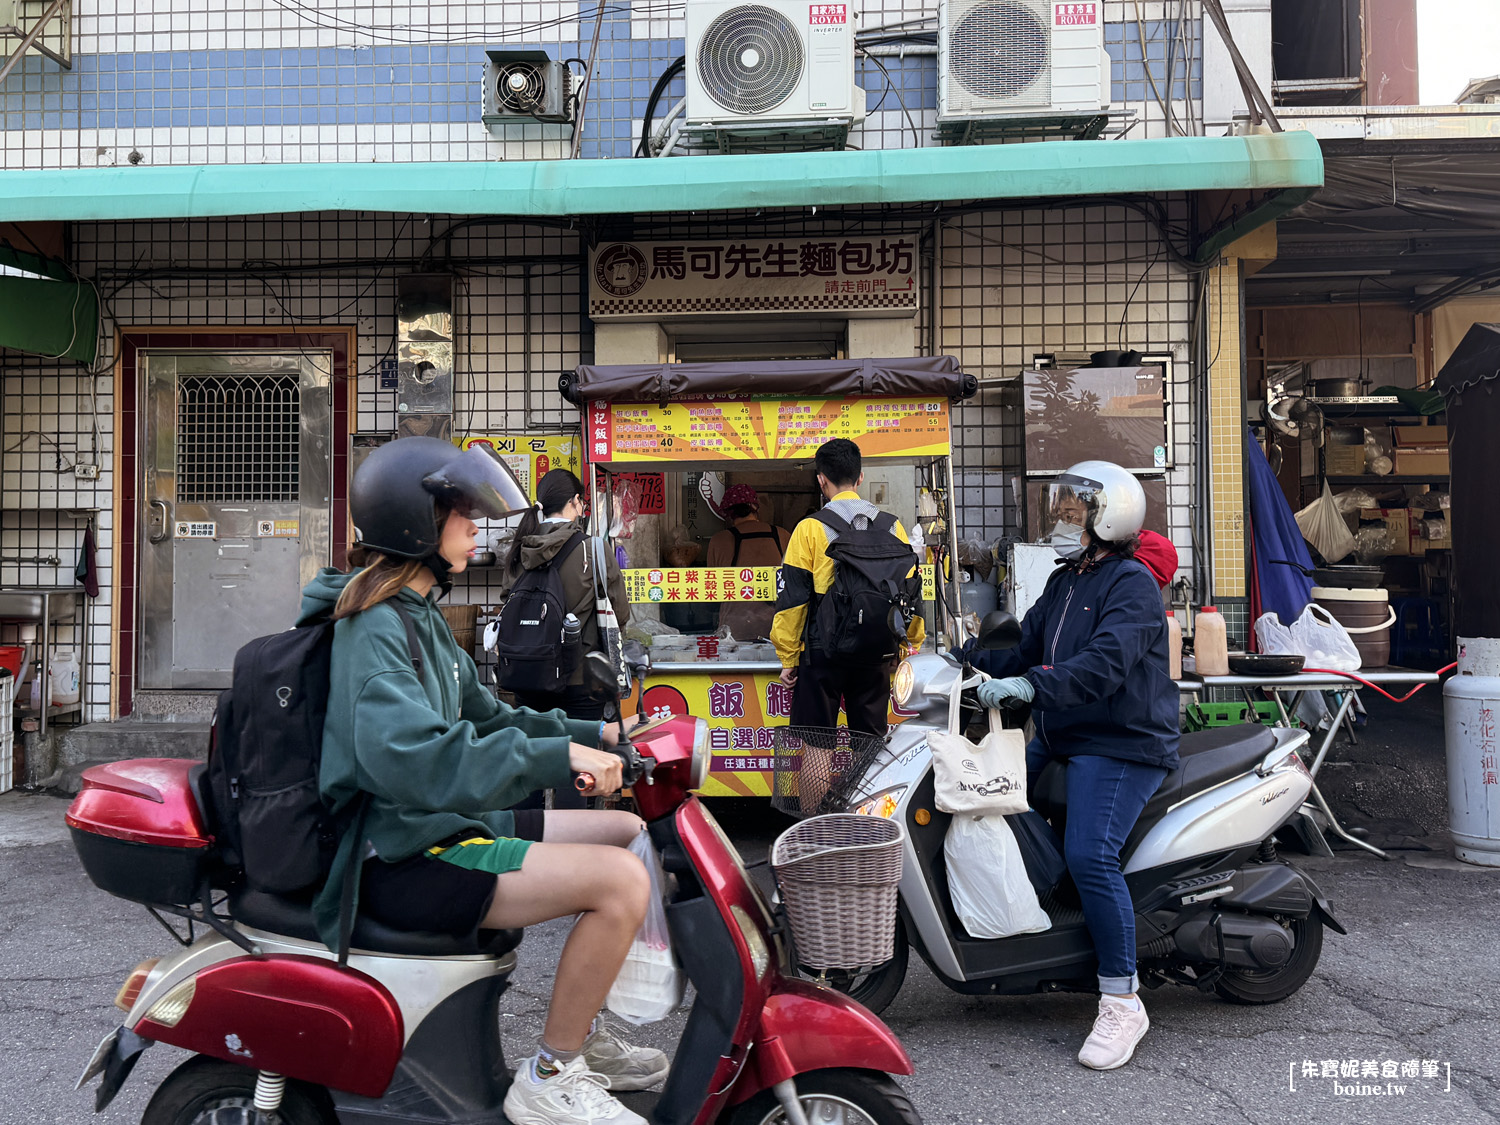
[[[970,938],[1010,938],[1052,928],[1004,816],[952,818],[942,854],[954,914]]]

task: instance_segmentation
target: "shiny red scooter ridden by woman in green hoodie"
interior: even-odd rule
[[[692,795],[708,772],[706,724],[672,718],[620,753],[696,988],[662,1092],[627,1104],[657,1125],[920,1125],[888,1077],[912,1072],[896,1035],[796,978],[776,914]],[[146,904],[184,946],[120,988],[124,1023],[78,1082],[104,1076],[94,1110],[142,1050],[170,1042],[194,1056],[158,1088],[142,1125],[504,1120],[498,1000],[520,932],[484,932],[476,948],[362,918],[340,966],[308,902],[222,885],[201,772],[176,759],[99,765],[68,813],[90,879]],[[188,934],[168,916],[186,920]]]

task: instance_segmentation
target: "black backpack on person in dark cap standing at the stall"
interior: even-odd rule
[[[562,564],[578,550],[584,532],[574,531],[544,567],[526,570],[500,610],[500,640],[495,645],[496,682],[507,692],[561,692],[584,658],[579,633],[562,636],[562,618],[570,606],[562,591]]]

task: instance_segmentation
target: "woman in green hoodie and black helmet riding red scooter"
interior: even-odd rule
[[[522,507],[514,480],[482,448],[400,438],[370,453],[350,489],[362,568],[324,570],[303,614],[333,606],[321,789],[333,808],[369,794],[340,842],[315,916],[336,938],[339,873],[364,852],[357,909],[398,930],[520,928],[580,915],[558,962],[538,1053],[506,1096],[514,1125],[644,1125],[606,1089],[664,1077],[662,1052],[632,1047],[596,1018],[645,915],[650,880],[624,848],[639,818],[507,808],[528,792],[591,774],[621,783],[614,726],[500,704],[480,687],[436,598],[468,566],[477,525]],[[414,628],[423,674],[412,668]],[[604,748],[600,748],[604,747]]]

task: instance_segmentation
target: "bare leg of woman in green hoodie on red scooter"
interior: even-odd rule
[[[604,814],[578,812],[576,816]],[[532,844],[519,872],[495,876],[495,902],[480,922],[484,930],[582,915],[558,958],[552,1006],[542,1032],[548,1046],[564,1052],[584,1046],[640,928],[650,892],[651,878],[634,855],[598,844]]]

